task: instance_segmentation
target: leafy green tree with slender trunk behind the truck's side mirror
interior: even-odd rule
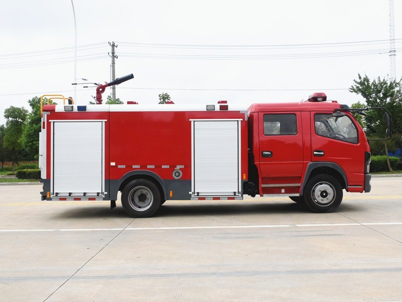
[[[370,81],[367,75],[362,77],[358,73],[358,80],[353,80],[354,85],[350,92],[361,95],[367,107],[385,107],[392,115],[393,131],[402,133],[402,79],[399,81],[381,79],[378,77]],[[385,117],[383,112],[371,110],[365,118],[365,130],[369,137],[381,138],[385,133]],[[399,138],[400,139],[400,138]],[[389,171],[392,171],[388,158],[388,144],[384,141],[384,152],[387,157]]]

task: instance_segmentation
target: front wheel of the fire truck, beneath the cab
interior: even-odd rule
[[[313,176],[304,191],[307,206],[316,213],[334,211],[342,202],[343,192],[339,181],[327,174]]]

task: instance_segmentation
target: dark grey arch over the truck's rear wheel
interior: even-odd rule
[[[126,173],[125,175],[123,175],[122,178],[120,178],[119,181],[117,182],[116,186],[114,187],[114,190],[112,190],[112,189],[110,190],[111,191],[111,194],[110,194],[111,200],[116,200],[118,191],[122,191],[123,188],[129,182],[131,182],[132,180],[135,180],[135,179],[139,179],[139,178],[147,179],[147,180],[154,182],[155,185],[158,187],[163,198],[164,199],[167,198],[165,182],[163,181],[162,178],[160,178],[159,175],[157,175],[156,173],[154,173],[152,171],[148,171],[148,170],[135,170],[135,171],[130,171],[130,172]]]

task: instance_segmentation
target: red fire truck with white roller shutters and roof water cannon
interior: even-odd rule
[[[110,200],[132,217],[167,200],[289,196],[314,212],[370,192],[370,147],[352,110],[315,93],[305,102],[44,105],[42,200]],[[66,104],[69,101],[70,104]],[[172,102],[170,102],[172,103]],[[360,111],[361,113],[362,111]],[[389,123],[388,123],[389,124]],[[388,125],[390,126],[390,125]]]

